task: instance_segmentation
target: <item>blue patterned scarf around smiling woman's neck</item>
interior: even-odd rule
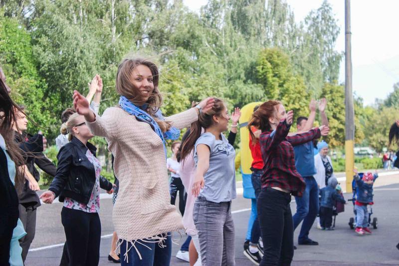
[[[171,139],[171,140],[176,140],[180,137],[180,130],[177,129],[176,127],[171,127],[167,132],[162,132],[161,128],[155,122],[154,118],[149,115],[146,111],[147,109],[147,104],[142,106],[141,108],[134,105],[131,101],[129,101],[125,96],[121,96],[119,99],[119,106],[128,112],[131,115],[134,115],[137,120],[145,122],[147,124],[150,124],[152,129],[157,133],[157,135],[161,138],[162,143],[164,144],[164,150],[165,150],[165,156],[166,156],[166,142],[165,140]],[[165,117],[162,115],[161,110],[158,110],[157,113],[155,114],[158,119],[165,120]]]

